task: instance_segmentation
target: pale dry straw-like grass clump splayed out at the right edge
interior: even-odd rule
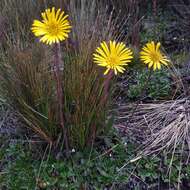
[[[127,120],[130,107],[120,107],[118,121]],[[125,125],[125,123],[124,123]],[[139,155],[163,150],[174,151],[187,145],[190,150],[190,100],[188,98],[164,103],[141,104],[126,132],[133,133],[143,143]],[[140,137],[140,138],[139,138]],[[143,138],[142,138],[143,137]],[[143,151],[142,151],[143,150]]]

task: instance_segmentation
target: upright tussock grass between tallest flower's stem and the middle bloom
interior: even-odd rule
[[[93,63],[92,55],[101,41],[120,40],[124,31],[122,23],[118,25],[119,17],[108,16],[105,7],[95,0],[70,1],[67,9],[73,28],[63,53],[66,118],[72,144],[84,147],[104,134],[112,96],[110,88],[109,98],[102,104],[105,77],[103,70]]]

